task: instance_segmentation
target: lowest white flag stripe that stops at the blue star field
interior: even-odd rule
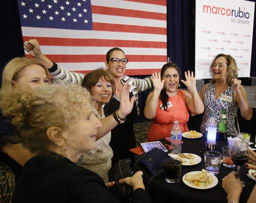
[[[124,17],[124,16],[116,16],[116,15],[92,14],[92,22],[166,28],[166,20],[146,19],[146,18],[139,18],[139,17]]]

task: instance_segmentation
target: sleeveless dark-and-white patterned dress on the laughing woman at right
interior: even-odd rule
[[[208,83],[204,93],[204,114],[201,121],[200,130],[201,133],[205,133],[205,125],[209,118],[209,113],[214,113],[215,120],[220,120],[221,109],[226,110],[226,122],[227,122],[227,135],[236,135],[237,130],[235,128],[234,119],[238,108],[237,103],[233,99],[234,89],[232,86],[228,86],[225,91],[215,99],[215,83]]]

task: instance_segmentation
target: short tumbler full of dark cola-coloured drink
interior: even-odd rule
[[[163,160],[165,181],[169,183],[179,182],[182,161],[179,158],[166,158]]]

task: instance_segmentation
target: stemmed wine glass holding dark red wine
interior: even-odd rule
[[[231,158],[232,161],[237,165],[237,177],[239,177],[240,167],[248,160],[248,143],[245,141],[235,141],[232,151]],[[243,181],[242,186],[245,186]]]

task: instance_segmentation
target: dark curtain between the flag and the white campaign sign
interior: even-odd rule
[[[167,55],[184,71],[194,71],[195,0],[167,0]],[[180,82],[182,84],[182,82]]]

